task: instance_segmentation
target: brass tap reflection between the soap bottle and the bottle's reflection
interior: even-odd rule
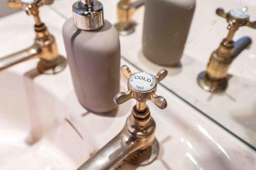
[[[133,14],[137,9],[145,4],[145,0],[120,0],[117,5],[118,23],[115,27],[120,35],[129,35],[135,31],[136,22],[132,20]]]

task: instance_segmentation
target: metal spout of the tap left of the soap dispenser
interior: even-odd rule
[[[3,71],[18,63],[34,59],[38,57],[40,53],[40,46],[37,44],[32,45],[26,50],[11,54],[9,56],[0,58],[0,71]]]

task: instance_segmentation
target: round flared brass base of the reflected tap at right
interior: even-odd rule
[[[212,80],[207,76],[206,71],[200,72],[197,77],[197,83],[204,90],[215,93],[225,91],[228,85],[227,78],[221,80]]]

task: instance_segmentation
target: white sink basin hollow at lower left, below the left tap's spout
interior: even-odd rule
[[[29,75],[1,72],[0,81],[0,169],[70,170],[89,155],[86,128]]]

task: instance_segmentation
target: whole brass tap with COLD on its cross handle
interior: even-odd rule
[[[137,166],[146,165],[158,156],[159,143],[155,138],[156,124],[146,101],[151,100],[160,109],[167,107],[165,99],[155,93],[157,83],[166,77],[167,70],[160,70],[156,76],[144,71],[132,74],[129,67],[123,65],[121,71],[128,79],[128,91],[118,93],[114,101],[120,105],[130,99],[135,99],[137,104],[133,107],[121,132],[77,170],[110,169],[123,159]],[[144,159],[134,159],[134,156],[146,151]]]

